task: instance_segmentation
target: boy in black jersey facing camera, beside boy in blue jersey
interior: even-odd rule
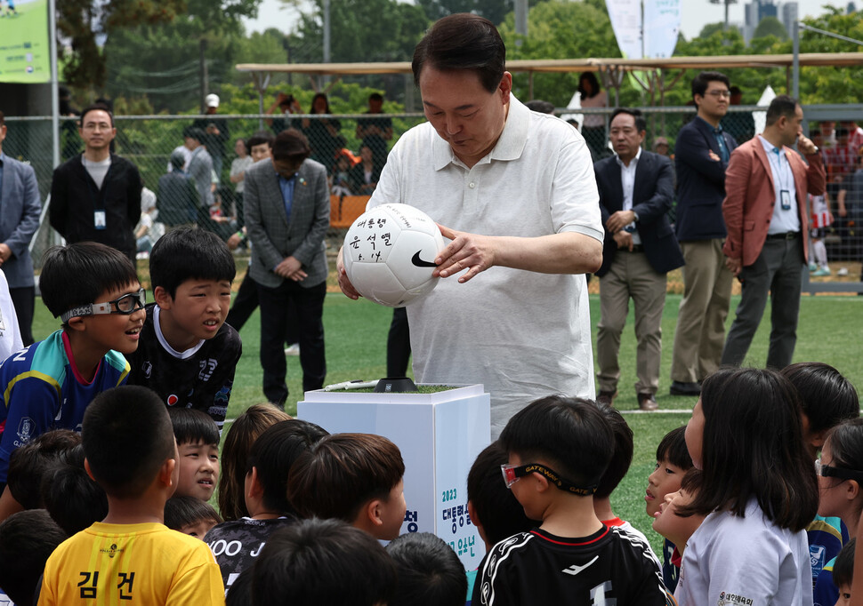
[[[168,406],[205,411],[220,431],[242,353],[237,331],[224,323],[236,273],[228,246],[205,229],[159,238],[149,256],[156,304],[127,356],[129,385],[149,387]]]

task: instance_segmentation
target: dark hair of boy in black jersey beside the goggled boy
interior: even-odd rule
[[[149,278],[173,298],[187,280],[233,282],[234,256],[222,239],[206,229],[180,227],[163,235],[149,253]]]

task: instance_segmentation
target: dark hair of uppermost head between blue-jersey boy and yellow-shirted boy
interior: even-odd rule
[[[37,509],[44,505],[40,491],[42,477],[67,451],[80,443],[81,436],[71,429],[54,429],[12,451],[8,486],[20,506]]]

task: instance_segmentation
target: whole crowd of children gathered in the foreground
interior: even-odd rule
[[[440,538],[399,536],[405,464],[385,437],[259,404],[220,451],[241,354],[230,251],[180,228],[149,262],[146,305],[109,247],[45,255],[62,327],[0,364],[6,603],[850,603],[863,419],[827,364],[704,381],[646,478],[661,558],[612,509],[633,460],[624,417],[529,403],[466,479],[486,556],[465,574]]]

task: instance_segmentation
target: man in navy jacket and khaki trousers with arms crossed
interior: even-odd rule
[[[725,267],[722,219],[725,169],[734,138],[720,121],[730,101],[728,76],[701,72],[692,80],[698,116],[683,126],[674,146],[677,168],[677,240],[683,259],[683,299],[674,331],[672,395],[699,395],[701,380],[719,368],[733,275]]]

